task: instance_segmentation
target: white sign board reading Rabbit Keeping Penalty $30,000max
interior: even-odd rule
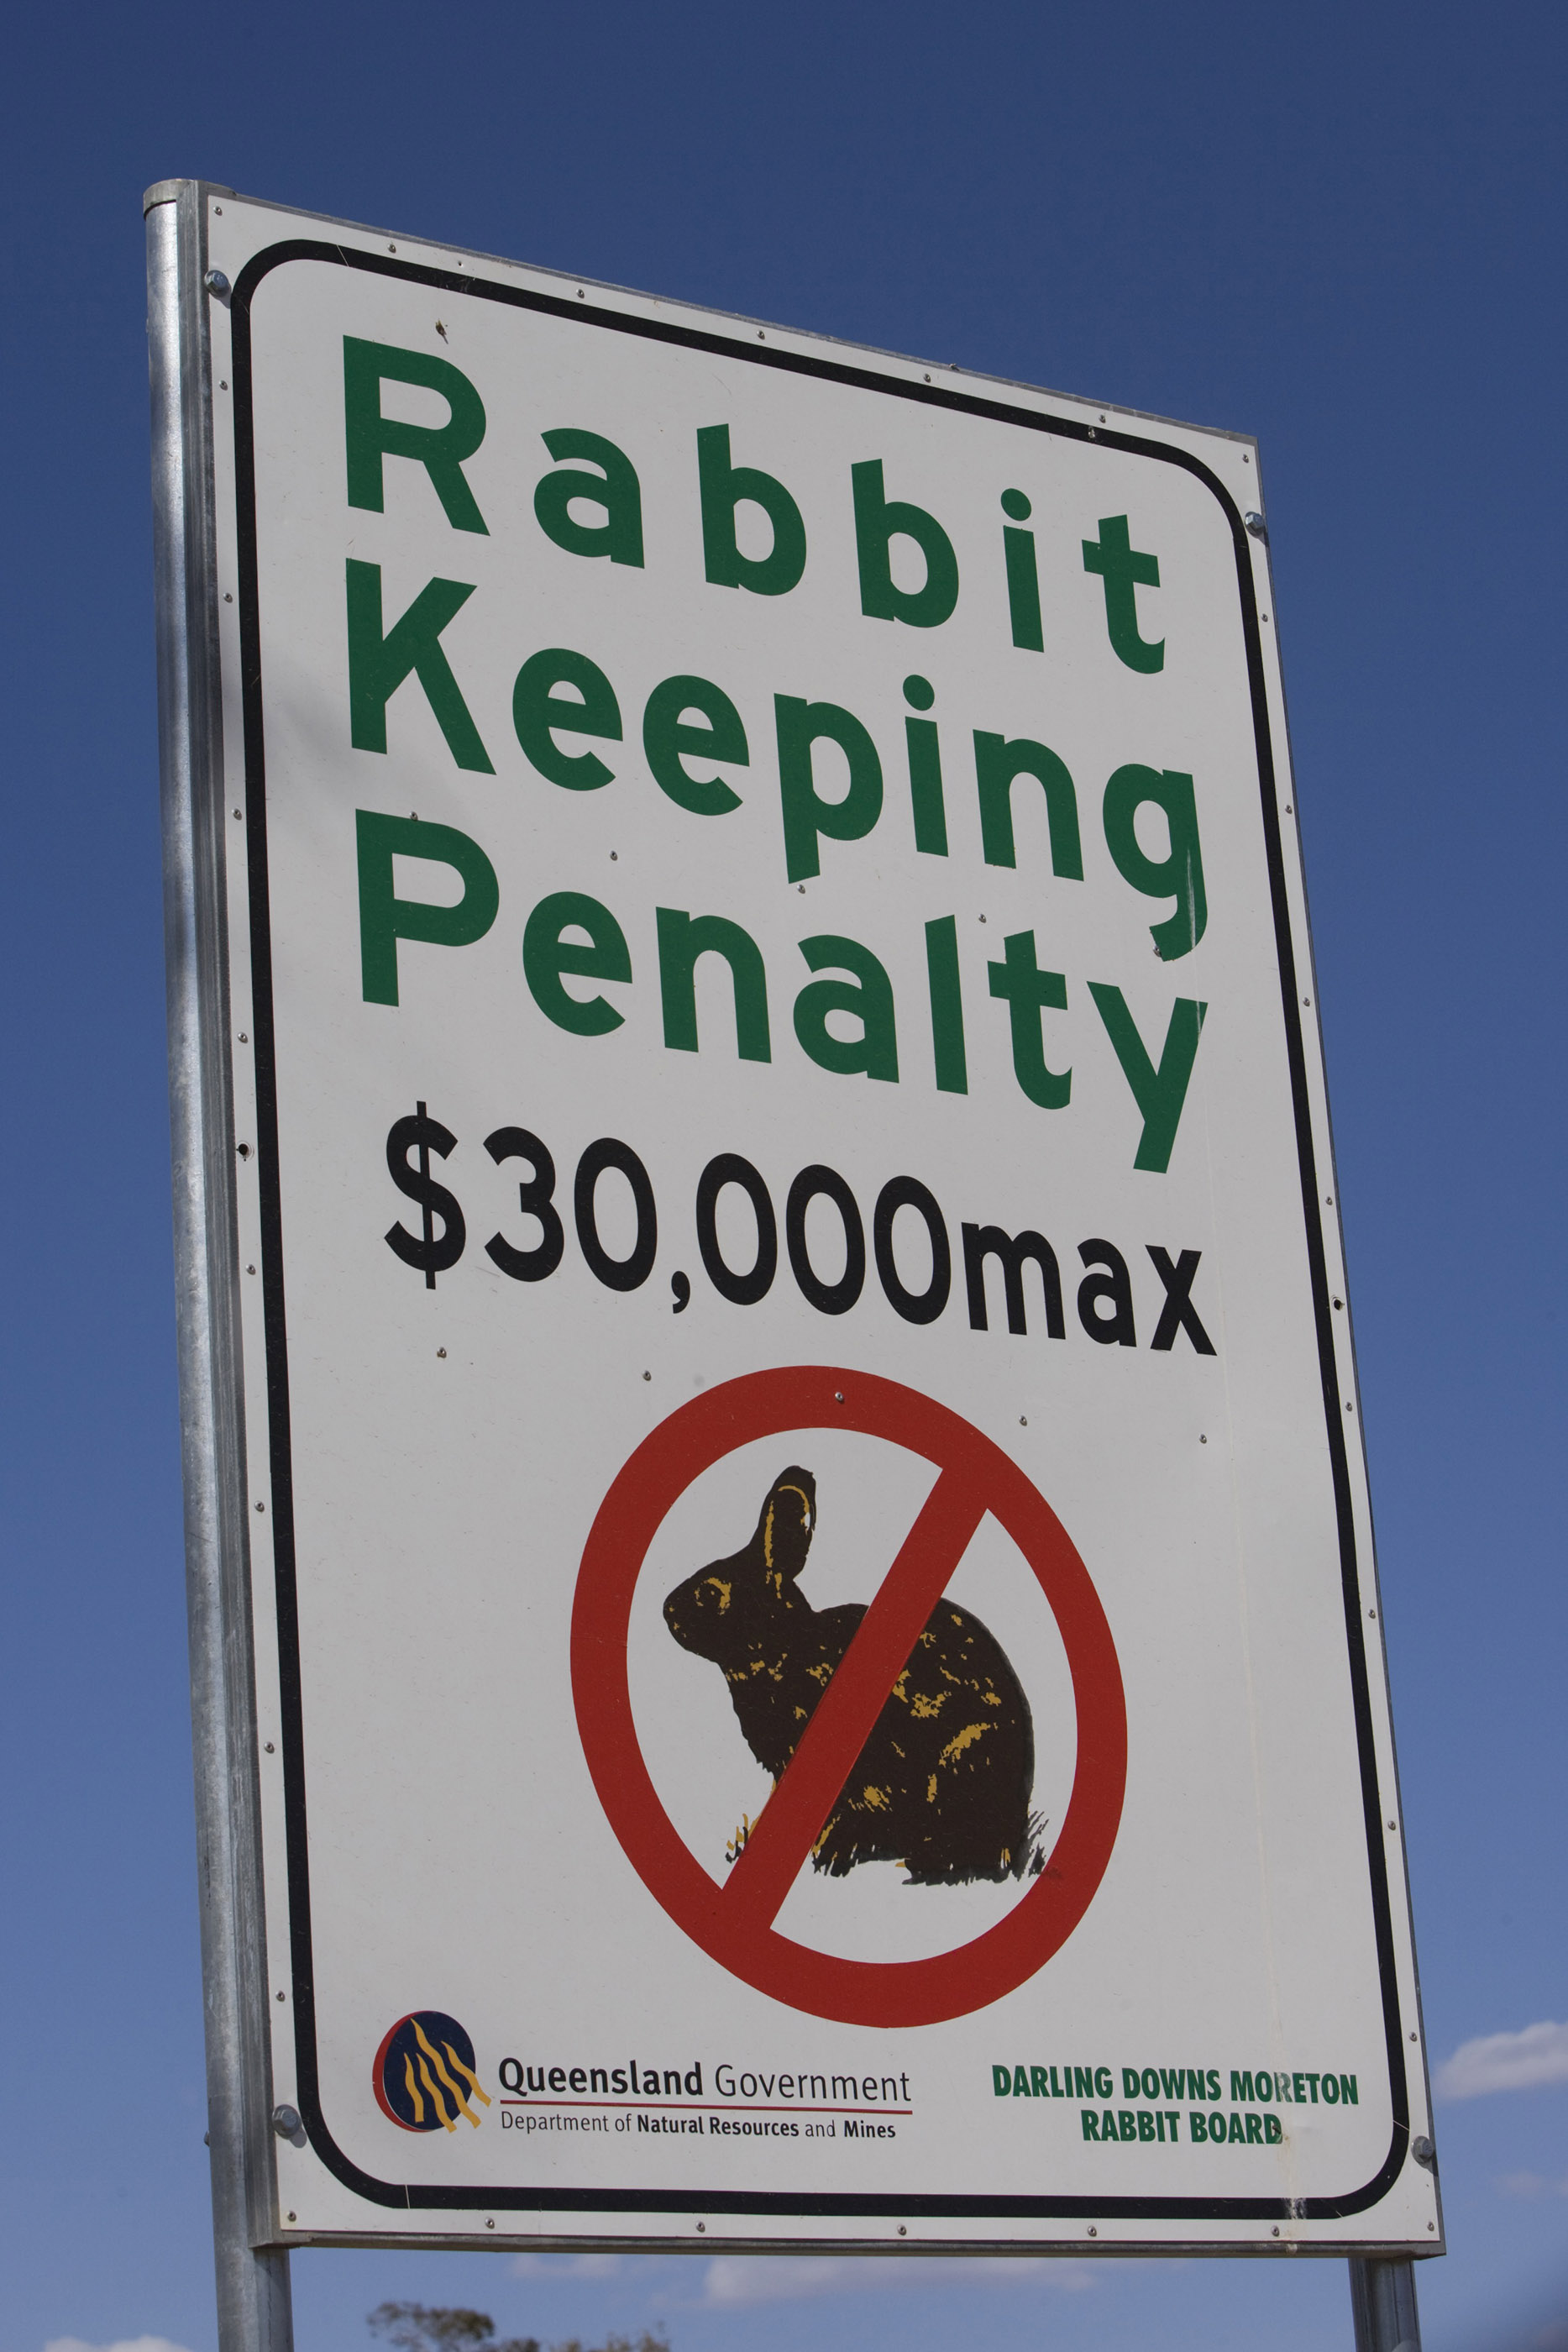
[[[1255,447],[205,202],[280,2241],[1436,2251]]]

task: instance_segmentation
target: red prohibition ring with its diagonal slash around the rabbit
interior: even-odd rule
[[[804,1428],[858,1430],[905,1446],[936,1463],[938,1482],[806,1724],[750,1844],[719,1886],[658,1802],[637,1743],[628,1682],[632,1599],[649,1545],[686,1486],[736,1446]],[[931,1599],[936,1606],[940,1576],[952,1573],[985,1512],[1006,1529],[1034,1571],[1072,1670],[1077,1769],[1060,1835],[1041,1875],[1013,1910],[952,1952],[893,1962],[839,1959],[795,1943],[773,1929],[773,1917],[820,1828],[820,1820],[809,1820],[802,1832],[806,1813],[799,1804],[811,1802],[809,1776],[792,1788],[795,1766],[827,1719],[835,1693],[844,1696],[839,1686],[849,1691],[856,1653],[860,1700],[865,1705],[870,1691],[872,1708],[882,1705],[912,1646],[912,1637],[898,1646],[893,1588],[903,1590],[924,1566],[926,1581],[938,1576],[938,1595]],[[891,1670],[882,1661],[886,1679],[877,1679],[877,1609],[886,1609],[882,1649],[886,1651],[889,1628],[896,1644],[886,1651]],[[752,1371],[682,1404],[644,1437],[599,1503],[583,1550],[571,1604],[571,1696],[599,1804],[632,1870],[670,1919],[745,1985],[842,2025],[940,2025],[1016,1992],[1072,1936],[1117,1842],[1126,1792],[1126,1698],[1117,1646],[1088,1569],[1051,1505],[1001,1446],[933,1397],[875,1374],[835,1371],[825,1364]],[[849,1762],[853,1764],[853,1752]],[[825,1809],[837,1797],[837,1785]],[[799,1797],[795,1842],[780,1849],[773,1837],[769,1872],[762,1832],[769,1813],[776,1823],[790,1816],[792,1797]]]

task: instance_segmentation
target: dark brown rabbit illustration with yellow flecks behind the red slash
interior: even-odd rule
[[[780,1470],[752,1541],[715,1559],[665,1602],[665,1625],[724,1670],[736,1722],[780,1778],[865,1609],[813,1609],[799,1590],[816,1531],[816,1477]],[[910,1886],[1039,1870],[1034,1724],[1001,1644],[940,1599],[872,1724],[816,1842],[813,1863],[903,1863]],[[736,1849],[745,1842],[745,1828]]]

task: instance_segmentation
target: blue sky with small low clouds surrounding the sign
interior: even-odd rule
[[[1568,2345],[1566,61],[1559,9],[1443,0],[12,19],[0,2352],[216,2343],[139,209],[169,174],[1260,435],[1427,2032],[1483,2044],[1443,2077],[1425,2331]],[[677,2352],[1349,2343],[1335,2263],[294,2270],[301,2352],[388,2296]]]

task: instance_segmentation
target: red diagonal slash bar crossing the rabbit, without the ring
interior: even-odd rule
[[[724,1912],[736,1926],[764,1929],[778,1917],[983,1517],[973,1482],[943,1470],[729,1872]]]

